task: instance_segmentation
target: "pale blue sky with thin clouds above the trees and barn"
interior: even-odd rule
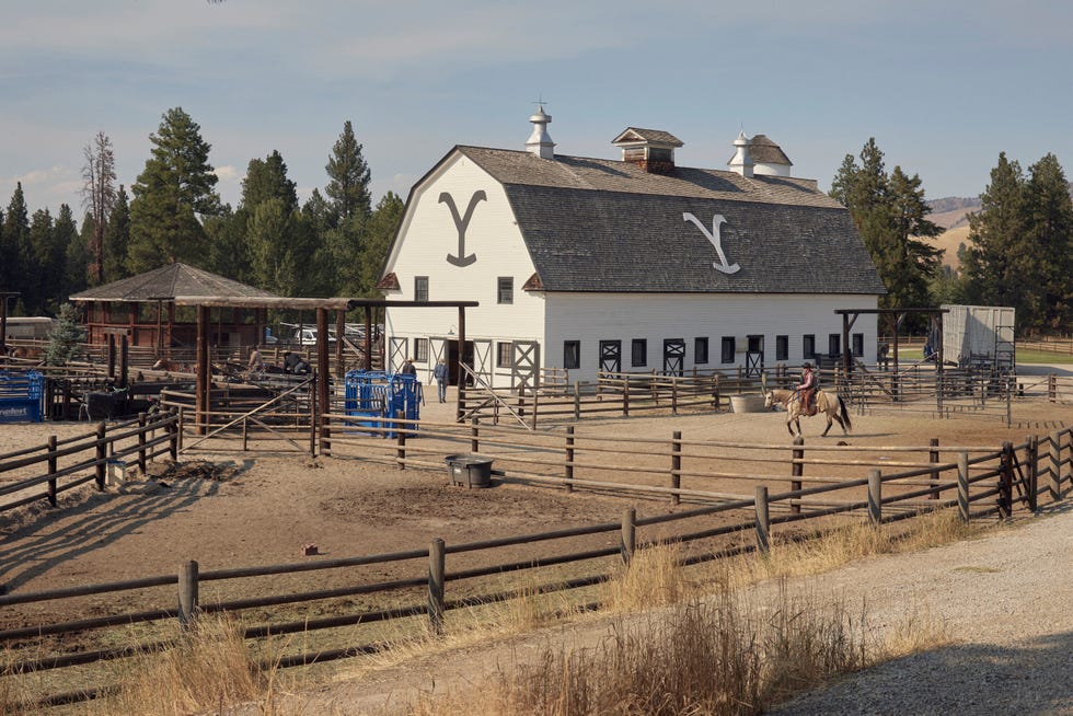
[[[618,158],[628,126],[726,169],[739,130],[830,188],[869,137],[927,198],[977,196],[1000,151],[1073,174],[1073,4],[1053,0],[39,0],[0,22],[0,209],[81,216],[83,148],[129,186],[180,106],[224,201],[278,150],[304,200],[350,120],[379,199],[454,145],[522,149],[543,97],[556,152]]]

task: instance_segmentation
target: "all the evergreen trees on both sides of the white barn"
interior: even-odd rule
[[[286,297],[378,296],[404,207],[390,192],[371,206],[350,122],[328,152],[324,193],[304,204],[278,151],[250,161],[238,207],[222,204],[211,147],[181,107],[162,115],[150,141],[132,196],[116,184],[108,137],[86,145],[81,226],[66,204],[55,217],[30,215],[15,186],[0,211],[0,290],[20,291],[15,313],[56,315],[70,293],[175,261]],[[881,307],[1012,305],[1022,332],[1073,327],[1073,203],[1053,154],[1026,173],[1000,153],[959,270],[927,241],[943,229],[927,218],[920,176],[888,173],[874,138],[846,154],[830,195],[850,209],[887,287]]]

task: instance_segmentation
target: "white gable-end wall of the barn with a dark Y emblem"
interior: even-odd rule
[[[449,254],[458,254],[459,230],[449,205],[439,199],[442,193],[450,194],[459,216],[464,217],[477,190],[486,199],[474,205],[465,229],[465,254],[473,254],[476,261],[459,267],[447,261]],[[503,187],[457,154],[414,192],[386,267],[399,278],[401,291],[388,298],[413,300],[415,277],[427,276],[430,301],[478,301],[480,307],[465,310],[466,338],[492,340],[495,361],[498,343],[543,340],[543,297],[521,290],[534,270]],[[497,303],[499,277],[514,280],[510,304]],[[445,338],[452,332],[457,336],[458,323],[458,309],[392,309],[385,332],[406,338],[412,351],[415,337]],[[434,351],[429,350],[428,362],[415,365],[427,380],[435,365]],[[496,385],[509,385],[509,368],[496,368],[495,376]]]

